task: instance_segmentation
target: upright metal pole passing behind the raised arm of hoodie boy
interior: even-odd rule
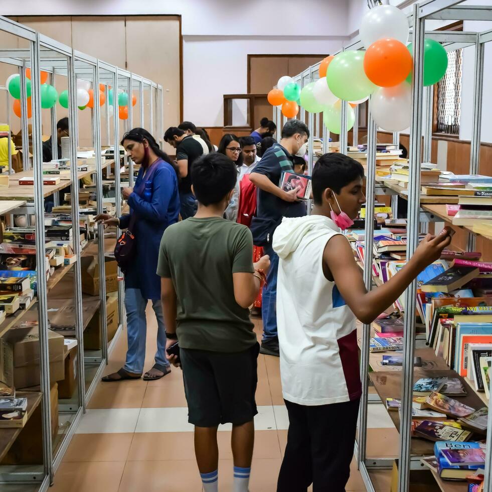
[[[373,242],[374,242],[374,202],[376,182],[376,122],[368,115],[367,135],[367,175],[366,175],[366,227],[364,245],[364,284],[369,292],[372,288],[373,269]],[[369,339],[371,337],[371,323],[364,323],[362,327],[362,349],[361,349],[361,381],[362,397],[359,409],[359,441],[358,462],[363,463],[366,459],[367,443],[367,405],[369,391]]]

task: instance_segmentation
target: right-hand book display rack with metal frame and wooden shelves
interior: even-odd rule
[[[413,60],[413,79],[412,83],[412,121],[410,129],[410,181],[407,189],[398,186],[395,181],[379,181],[376,178],[376,143],[377,127],[368,114],[368,136],[367,136],[367,166],[366,166],[366,209],[373,209],[376,195],[390,195],[393,213],[397,213],[397,199],[401,197],[408,200],[407,217],[407,258],[410,258],[418,245],[419,233],[426,232],[429,222],[450,222],[451,219],[446,213],[446,204],[457,203],[455,196],[427,196],[420,192],[420,164],[421,162],[431,161],[431,142],[432,142],[432,103],[433,87],[423,87],[423,45],[424,38],[429,38],[440,42],[446,51],[453,51],[466,47],[474,49],[474,88],[472,101],[472,137],[470,152],[470,174],[490,174],[490,168],[479,169],[480,158],[480,131],[482,113],[482,91],[483,91],[483,70],[484,70],[484,47],[492,41],[492,30],[484,32],[457,32],[457,31],[432,31],[429,26],[432,24],[426,21],[492,21],[492,6],[470,6],[457,0],[423,0],[409,10],[408,20],[411,27],[410,40],[414,48]],[[434,24],[435,25],[435,24]],[[427,28],[427,30],[426,30]],[[492,29],[492,23],[490,23]],[[350,45],[344,46],[341,51],[364,49],[360,39],[355,38]],[[333,53],[336,54],[336,53]],[[298,79],[301,88],[307,83],[313,82],[318,77],[319,63],[306,68],[301,72]],[[299,76],[298,76],[299,77]],[[299,83],[299,82],[298,82]],[[348,149],[347,132],[347,105],[342,101],[342,121],[341,135],[339,136],[340,152]],[[353,145],[359,143],[358,138],[358,117],[360,107],[356,109],[356,123],[353,130]],[[280,108],[273,107],[274,121],[277,127],[281,128],[285,118],[282,117]],[[316,138],[316,124],[318,114],[307,114],[301,107],[297,116],[308,124],[311,130],[309,138],[309,161],[308,174],[311,174],[316,156],[313,151],[314,139]],[[329,129],[322,132],[322,153],[329,152]],[[423,139],[422,137],[423,136]],[[399,133],[393,133],[393,144],[399,145]],[[422,160],[420,160],[422,156]],[[308,207],[308,213],[310,206]],[[456,227],[456,226],[453,226]],[[477,234],[473,232],[473,226],[464,226],[469,232],[468,251],[474,251],[475,239]],[[374,222],[366,221],[365,237],[366,251],[373,249]],[[491,237],[484,236],[486,239]],[[367,259],[369,258],[369,261]],[[485,261],[490,261],[486,259]],[[364,264],[364,280],[366,287],[371,289],[375,284],[372,277],[372,258],[366,256]],[[411,284],[405,292],[405,306],[409,313],[415,312],[416,307],[416,282]],[[369,340],[373,336],[371,325],[359,324],[358,339],[361,349],[361,379],[363,383],[363,396],[361,400],[361,410],[359,415],[359,429],[355,453],[358,458],[359,469],[368,490],[380,489],[380,474],[387,470],[391,475],[394,458],[370,457],[367,451],[367,419],[368,404],[380,403],[385,398],[402,399],[402,411],[389,412],[395,427],[399,431],[398,449],[395,449],[395,456],[398,456],[398,479],[392,480],[392,491],[407,491],[412,489],[412,476],[417,470],[422,470],[423,465],[420,458],[423,454],[433,454],[433,443],[411,437],[411,408],[412,408],[412,388],[414,381],[420,377],[431,377],[431,374],[445,374],[448,377],[457,377],[456,373],[450,370],[442,357],[437,357],[432,348],[426,348],[421,336],[416,336],[415,316],[405,316],[405,344],[403,351],[403,367],[400,371],[384,370],[382,366],[382,355],[370,353]],[[390,354],[392,352],[389,352]],[[414,368],[414,355],[422,357],[424,368]],[[427,371],[425,370],[427,369]],[[487,400],[483,393],[474,391],[466,380],[462,378],[463,384],[468,392],[466,401],[473,408],[481,408],[487,405],[490,408],[491,401]],[[392,394],[389,394],[391,390]],[[492,413],[488,414],[488,428],[492,428]],[[373,434],[372,434],[373,435]],[[389,453],[388,455],[391,455]],[[426,469],[426,468],[425,468]],[[430,471],[429,471],[430,473]],[[444,492],[458,492],[467,489],[467,483],[463,481],[454,482],[442,480],[437,474],[432,472],[435,484]],[[394,478],[394,477],[393,477]],[[435,485],[434,485],[435,486]],[[377,487],[377,488],[375,488]],[[484,490],[492,490],[492,440],[487,439],[486,461],[485,461],[485,483]]]

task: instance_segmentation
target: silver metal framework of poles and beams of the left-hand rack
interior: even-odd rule
[[[72,136],[70,141],[70,161],[77,161],[77,136],[78,136],[78,113],[77,113],[77,76],[84,79],[89,79],[94,88],[94,92],[98,94],[99,83],[107,86],[112,86],[114,89],[113,97],[113,134],[114,139],[114,185],[115,185],[115,212],[116,216],[120,216],[122,212],[122,201],[120,199],[119,190],[121,188],[120,165],[119,165],[119,118],[118,118],[118,82],[123,79],[128,81],[128,109],[129,117],[125,120],[125,129],[129,130],[132,121],[132,111],[139,111],[141,115],[141,126],[144,127],[144,107],[143,107],[143,83],[147,83],[150,87],[150,118],[153,121],[153,133],[158,132],[156,140],[161,141],[160,134],[163,129],[163,89],[162,86],[155,82],[145,79],[139,75],[132,74],[126,70],[122,70],[114,65],[101,61],[92,56],[81,53],[73,48],[50,39],[35,30],[16,23],[8,18],[0,16],[0,31],[18,36],[25,42],[29,43],[28,48],[1,49],[0,48],[0,63],[10,64],[15,66],[21,77],[21,129],[22,129],[22,144],[23,144],[23,169],[30,170],[34,174],[34,199],[29,201],[25,206],[18,208],[17,213],[35,215],[36,220],[36,264],[37,264],[37,309],[38,309],[38,325],[39,325],[39,343],[40,343],[40,387],[41,387],[41,403],[42,408],[42,439],[43,439],[43,463],[42,465],[24,466],[9,466],[8,470],[0,470],[0,488],[2,484],[26,483],[37,484],[39,490],[45,491],[50,484],[53,483],[53,478],[56,469],[60,465],[63,456],[68,448],[70,440],[76,430],[80,418],[87,403],[92,396],[100,377],[108,363],[108,356],[114,348],[115,342],[119,334],[124,328],[124,292],[123,283],[118,282],[118,316],[119,324],[117,333],[110,343],[107,343],[107,323],[106,323],[106,285],[105,282],[100,282],[99,300],[100,303],[100,326],[101,326],[101,357],[84,357],[84,337],[83,337],[83,296],[82,296],[82,272],[81,272],[81,244],[80,241],[74,240],[74,254],[77,261],[71,266],[70,271],[74,275],[74,318],[75,318],[75,337],[78,344],[77,357],[77,398],[78,404],[60,404],[61,411],[70,411],[73,413],[73,420],[68,431],[64,434],[61,443],[57,446],[56,455],[53,455],[53,440],[51,429],[51,405],[50,405],[50,358],[48,349],[48,281],[44,272],[45,265],[45,227],[44,227],[44,185],[43,185],[43,167],[42,167],[42,132],[41,132],[41,87],[40,87],[40,70],[46,71],[49,74],[48,82],[55,86],[55,74],[64,75],[67,77],[67,86],[69,92],[69,134]],[[32,144],[29,142],[28,134],[28,118],[27,118],[27,93],[26,93],[26,69],[31,69],[32,82]],[[140,97],[137,98],[137,104],[133,109],[131,104],[131,94],[133,89],[133,81],[139,81]],[[9,140],[12,132],[11,128],[11,101],[9,91],[6,87],[0,87],[0,90],[6,91],[7,110],[8,110],[8,125],[9,125]],[[153,97],[152,97],[153,96]],[[152,99],[153,102],[152,102]],[[105,104],[106,110],[106,128],[101,129],[101,107],[99,104],[94,104],[91,110],[91,131],[92,142],[95,150],[95,172],[93,178],[96,187],[97,213],[103,211],[103,184],[102,171],[103,162],[101,156],[101,131],[106,132],[108,143],[110,142],[110,125],[108,103]],[[52,138],[56,138],[56,121],[57,107],[56,104],[51,108],[51,125]],[[150,129],[152,132],[152,129]],[[30,161],[29,146],[32,145],[32,166]],[[53,145],[53,149],[57,149]],[[56,150],[55,150],[56,152]],[[54,156],[57,157],[57,156]],[[58,156],[61,157],[61,156]],[[129,167],[133,167],[133,163],[129,161]],[[12,154],[9,145],[9,174],[12,172]],[[130,186],[133,184],[133,173],[130,176]],[[70,181],[72,193],[72,224],[79,223],[79,177],[77,174],[77,166],[70,167]],[[68,186],[68,184],[67,184]],[[58,192],[54,193],[55,196]],[[55,198],[56,200],[56,198]],[[55,201],[58,204],[57,201]],[[11,214],[14,213],[10,212]],[[119,232],[119,229],[117,229]],[[97,256],[99,263],[99,277],[105,278],[104,265],[104,228],[100,224],[97,227]],[[76,234],[74,237],[78,237]],[[73,270],[72,270],[73,269]],[[120,274],[120,272],[119,272]],[[86,391],[85,370],[88,364],[96,365],[97,370],[93,375],[91,384]]]

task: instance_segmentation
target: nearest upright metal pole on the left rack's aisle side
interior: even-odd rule
[[[38,329],[39,329],[39,355],[41,377],[40,386],[43,410],[43,454],[45,473],[53,482],[53,445],[51,438],[51,404],[50,404],[50,354],[48,348],[48,299],[45,269],[45,208],[43,196],[43,166],[41,163],[41,97],[40,97],[40,72],[39,72],[39,33],[36,33],[36,41],[31,42],[31,86],[32,86],[32,110],[33,110],[33,164],[34,164],[34,210],[36,214],[36,277],[38,284]],[[21,101],[26,95],[25,71],[21,75]],[[25,118],[27,119],[27,118]],[[24,141],[24,139],[23,139]],[[26,150],[28,148],[26,147]]]

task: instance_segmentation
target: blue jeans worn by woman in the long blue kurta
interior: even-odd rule
[[[142,297],[140,289],[125,290],[126,329],[128,331],[128,351],[124,370],[132,374],[142,374],[145,363],[145,340],[147,337],[147,320],[145,307],[148,299]],[[162,315],[160,299],[152,299],[152,308],[157,318],[157,353],[155,363],[159,369],[169,367],[166,358],[166,329]]]

